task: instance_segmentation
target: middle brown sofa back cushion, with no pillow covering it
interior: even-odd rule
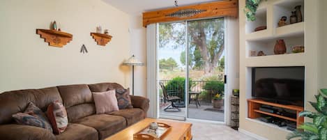
[[[57,86],[63,105],[67,109],[68,122],[96,114],[96,107],[89,86],[86,84]]]

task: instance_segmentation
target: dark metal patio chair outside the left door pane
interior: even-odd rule
[[[169,104],[169,106],[165,107],[164,111],[168,111],[168,112],[178,112],[181,111],[181,109],[178,109],[178,105],[176,105],[176,102],[181,102],[181,98],[178,98],[176,95],[176,93],[178,93],[178,91],[176,90],[167,90],[165,85],[160,82],[160,87],[162,88],[162,93],[164,95],[164,102],[171,102]],[[185,106],[184,106],[185,107]]]

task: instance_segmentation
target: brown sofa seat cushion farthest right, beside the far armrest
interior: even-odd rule
[[[109,115],[122,116],[123,118],[126,118],[128,126],[144,119],[144,111],[139,108],[121,109],[119,111],[113,111],[109,113]]]

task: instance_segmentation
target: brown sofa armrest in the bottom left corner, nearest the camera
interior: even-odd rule
[[[55,140],[52,132],[30,125],[0,125],[0,138],[10,140]]]

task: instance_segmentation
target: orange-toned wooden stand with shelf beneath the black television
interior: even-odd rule
[[[271,114],[265,111],[260,111],[259,107],[261,107],[262,104],[270,105],[273,107],[280,107],[282,109],[289,109],[296,111],[296,118],[289,118],[287,116],[280,116],[278,114]],[[274,116],[277,118],[283,118],[285,120],[291,120],[296,122],[296,126],[301,125],[304,122],[303,117],[299,117],[298,114],[303,111],[303,107],[296,106],[296,105],[284,105],[284,104],[277,104],[273,102],[266,102],[264,100],[260,99],[248,99],[248,118],[259,118],[261,117],[261,114],[265,114],[268,116]]]

